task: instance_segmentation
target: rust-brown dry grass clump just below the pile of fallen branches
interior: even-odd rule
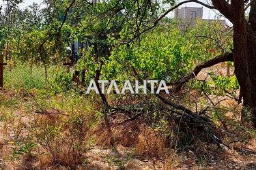
[[[149,158],[159,158],[167,152],[165,139],[150,126],[137,121],[108,125],[102,123],[92,133],[97,137],[96,144],[104,148],[118,145],[132,147],[138,156]]]

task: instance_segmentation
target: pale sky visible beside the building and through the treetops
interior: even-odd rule
[[[208,3],[210,0],[201,0],[203,3]],[[20,8],[25,8],[33,3],[42,3],[42,0],[23,0],[23,3],[19,5]],[[0,5],[6,4],[6,1],[0,0]],[[202,5],[199,5],[198,3],[185,3],[184,5],[181,5],[180,7],[202,7]],[[173,13],[169,16],[173,16]],[[219,13],[216,12],[216,10],[209,10],[207,7],[203,7],[203,19],[216,19],[219,18]],[[221,18],[223,19],[223,18]]]

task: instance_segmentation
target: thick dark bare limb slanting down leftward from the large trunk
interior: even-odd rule
[[[202,63],[201,65],[197,65],[193,71],[191,71],[190,74],[186,75],[182,80],[178,82],[169,82],[167,83],[167,86],[175,86],[175,90],[180,90],[182,86],[188,82],[189,80],[197,77],[197,75],[200,73],[202,69],[212,67],[218,63],[223,63],[226,61],[233,61],[233,53],[226,52],[223,55],[217,56],[216,58],[212,58],[209,61],[206,61],[205,63]]]

